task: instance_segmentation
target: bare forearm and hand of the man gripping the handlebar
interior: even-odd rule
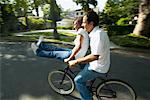
[[[90,55],[87,55],[85,57],[78,58],[76,60],[71,60],[68,62],[68,64],[70,67],[73,67],[79,63],[88,63],[88,62],[92,62],[94,60],[98,60],[98,58],[99,58],[99,55],[90,54]]]

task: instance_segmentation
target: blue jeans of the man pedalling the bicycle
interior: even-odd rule
[[[86,86],[88,80],[95,79],[96,77],[102,77],[106,74],[98,73],[93,70],[88,69],[89,64],[87,64],[82,71],[75,77],[74,82],[77,90],[79,91],[82,100],[93,100],[92,93]]]

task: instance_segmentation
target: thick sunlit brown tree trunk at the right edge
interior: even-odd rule
[[[135,35],[150,37],[150,1],[144,0],[139,9],[137,24],[133,31]]]

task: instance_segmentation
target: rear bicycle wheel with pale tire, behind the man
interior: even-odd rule
[[[133,88],[121,80],[107,80],[97,88],[98,100],[136,100]]]

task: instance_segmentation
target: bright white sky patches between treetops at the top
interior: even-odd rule
[[[107,0],[97,0],[98,1],[98,7],[99,7],[99,11],[102,11],[105,3]],[[58,5],[61,5],[61,7],[64,10],[70,9],[70,10],[76,10],[76,9],[80,9],[81,6],[77,6],[75,2],[73,2],[73,0],[56,0]]]

